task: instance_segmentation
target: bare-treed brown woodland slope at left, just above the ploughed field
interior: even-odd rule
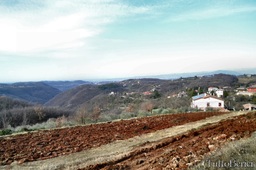
[[[42,107],[40,104],[31,103],[26,100],[0,97],[0,128],[7,128],[7,125],[13,127],[22,125],[24,118],[27,124],[35,124],[40,121],[46,121],[49,118],[71,115],[74,111],[58,107]]]

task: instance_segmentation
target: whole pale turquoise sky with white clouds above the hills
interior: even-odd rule
[[[0,83],[255,68],[255,28],[255,0],[0,0]]]

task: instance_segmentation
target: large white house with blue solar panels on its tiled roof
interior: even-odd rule
[[[191,107],[197,107],[201,110],[206,110],[209,107],[216,110],[221,110],[224,109],[224,101],[225,100],[220,97],[204,93],[192,97]]]

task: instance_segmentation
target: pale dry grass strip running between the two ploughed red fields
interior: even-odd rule
[[[239,114],[244,114],[245,112],[231,112],[230,114],[224,114],[219,116],[209,117],[204,120],[200,120],[197,122],[191,122],[180,126],[175,126],[168,129],[158,130],[156,132],[150,134],[138,134],[139,136],[126,139],[119,140],[109,143],[107,145],[103,145],[97,148],[92,148],[90,150],[81,151],[78,153],[72,153],[69,155],[63,155],[52,159],[46,159],[41,161],[34,162],[26,162],[18,165],[17,162],[13,162],[11,165],[2,166],[2,169],[77,169],[86,167],[87,165],[93,165],[96,163],[102,163],[105,161],[110,161],[114,159],[121,158],[125,154],[129,154],[133,151],[134,146],[141,145],[143,143],[147,143],[142,147],[146,147],[147,145],[151,145],[148,142],[159,141],[166,137],[176,136],[181,133],[186,133],[193,128],[200,128],[209,123],[216,123],[220,120],[227,119],[231,116],[237,116]]]

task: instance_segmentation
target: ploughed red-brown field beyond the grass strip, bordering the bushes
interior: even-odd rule
[[[168,114],[1,137],[0,165],[54,158],[205,118],[206,113]]]

